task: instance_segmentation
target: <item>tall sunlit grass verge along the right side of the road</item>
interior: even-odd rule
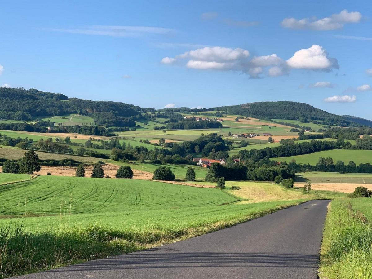
[[[321,249],[320,278],[372,278],[372,226],[350,199],[331,202]]]

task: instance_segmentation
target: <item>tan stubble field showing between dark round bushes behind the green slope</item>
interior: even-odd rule
[[[42,166],[41,171],[35,174],[46,175],[47,173],[51,173],[51,175],[56,176],[75,176],[77,167],[74,166]],[[105,175],[109,175],[111,177],[115,177],[116,171],[118,171],[119,166],[114,164],[103,164],[102,165],[103,171],[105,171]],[[92,173],[93,166],[85,166],[85,175],[90,176]],[[147,171],[142,170],[133,170],[133,178],[134,179],[152,179],[153,174]]]

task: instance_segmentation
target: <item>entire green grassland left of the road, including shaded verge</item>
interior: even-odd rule
[[[56,176],[3,186],[0,195],[4,277],[170,243],[304,201],[235,205],[219,189]]]

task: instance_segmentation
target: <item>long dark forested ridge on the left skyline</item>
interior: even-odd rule
[[[36,89],[0,87],[0,119],[27,121],[67,113],[92,116],[97,125],[135,126],[128,118],[141,115],[141,108],[121,102],[68,98]]]

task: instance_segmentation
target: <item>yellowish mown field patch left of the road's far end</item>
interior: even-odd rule
[[[232,182],[226,183],[229,186],[239,186],[241,189],[229,191],[229,193],[247,201],[241,201],[237,204],[269,202],[269,201],[289,201],[293,199],[306,198],[301,193],[293,190],[286,190],[283,187],[266,182]]]

